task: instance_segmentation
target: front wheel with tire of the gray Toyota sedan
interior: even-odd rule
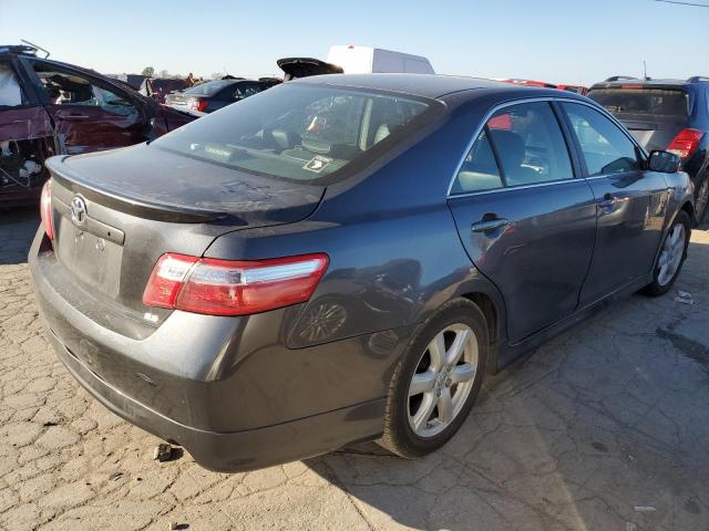
[[[690,235],[689,215],[680,210],[662,240],[662,247],[653,268],[653,282],[643,289],[643,293],[659,296],[670,290],[687,258]]]

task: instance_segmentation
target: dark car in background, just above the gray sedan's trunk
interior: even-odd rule
[[[226,79],[201,83],[165,96],[165,105],[192,113],[213,113],[277,84],[274,80]]]

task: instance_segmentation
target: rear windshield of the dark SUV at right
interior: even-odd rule
[[[614,114],[639,114],[686,118],[687,94],[665,88],[599,88],[588,93]]]

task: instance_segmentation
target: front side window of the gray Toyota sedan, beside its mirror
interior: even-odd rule
[[[580,145],[588,176],[640,168],[635,144],[610,119],[587,105],[562,106]]]

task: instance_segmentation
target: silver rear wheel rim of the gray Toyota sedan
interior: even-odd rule
[[[477,372],[477,339],[466,324],[439,332],[425,347],[409,385],[409,425],[433,437],[458,417]]]

